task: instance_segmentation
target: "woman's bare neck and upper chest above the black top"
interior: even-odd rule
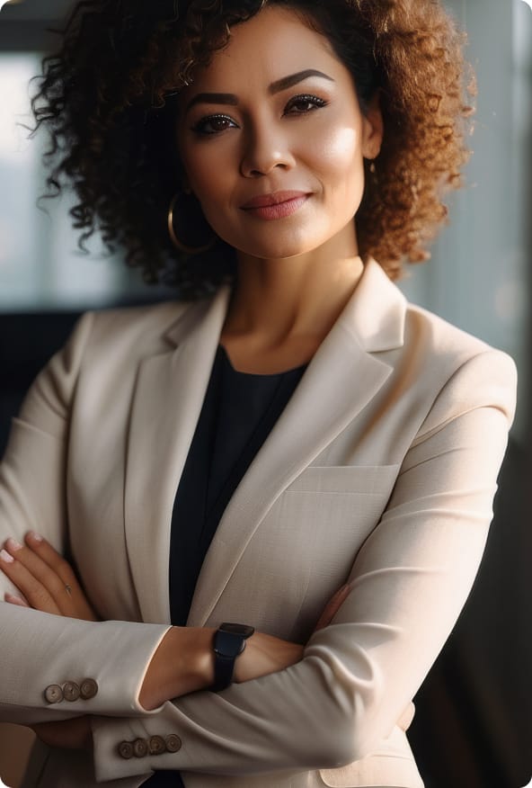
[[[238,255],[221,342],[236,369],[282,372],[308,363],[359,283],[354,228],[303,255]]]

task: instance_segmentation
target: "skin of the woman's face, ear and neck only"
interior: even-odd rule
[[[279,89],[309,69],[324,76]],[[237,251],[221,337],[237,369],[307,363],[350,299],[363,270],[353,221],[363,160],[377,157],[382,135],[377,101],[363,114],[329,41],[279,6],[237,25],[183,91],[177,136],[186,186]],[[307,195],[287,217],[243,210],[257,195],[285,190]]]

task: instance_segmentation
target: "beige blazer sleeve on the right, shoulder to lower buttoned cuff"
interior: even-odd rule
[[[140,770],[253,775],[332,768],[367,756],[447,640],[479,567],[514,410],[515,367],[485,351],[439,391],[379,524],[356,556],[350,595],[297,665],[156,715],[93,718],[101,781]],[[121,740],[174,734],[171,754],[124,760]]]

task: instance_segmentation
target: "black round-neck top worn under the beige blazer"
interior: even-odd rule
[[[274,375],[237,372],[220,345],[173,504],[170,611],[186,624],[199,570],[224,510],[286,407],[306,365]],[[156,772],[149,788],[182,786],[177,772]]]

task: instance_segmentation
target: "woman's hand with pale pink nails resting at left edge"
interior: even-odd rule
[[[24,544],[7,539],[0,551],[0,569],[21,594],[5,594],[5,602],[43,613],[98,621],[74,569],[39,534],[27,533]]]

